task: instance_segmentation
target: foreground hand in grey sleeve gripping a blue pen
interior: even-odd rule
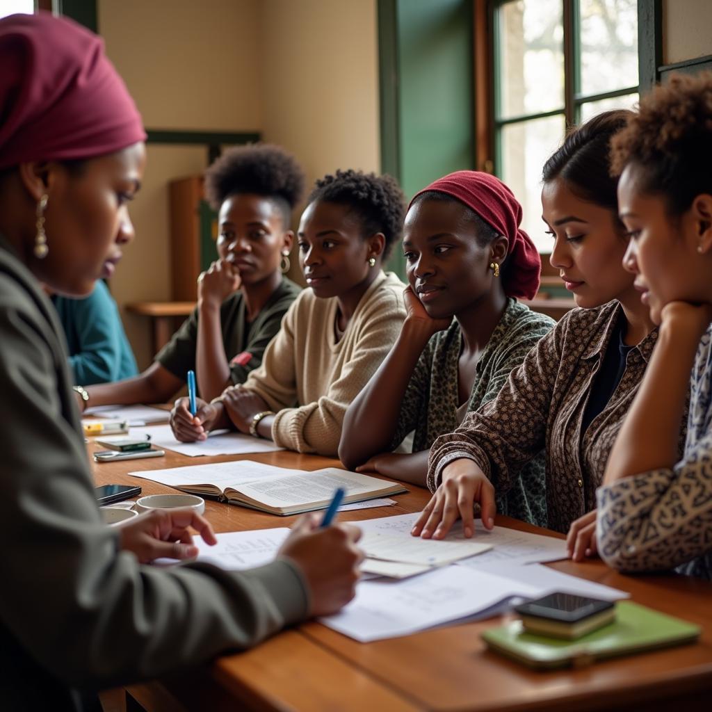
[[[351,524],[320,528],[320,516],[305,515],[292,528],[278,556],[300,567],[309,589],[311,616],[337,612],[356,593],[363,552],[361,530]]]

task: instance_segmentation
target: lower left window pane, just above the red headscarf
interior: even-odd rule
[[[563,115],[503,126],[500,135],[501,178],[522,204],[522,227],[540,252],[552,245],[541,219],[541,169],[563,135]]]

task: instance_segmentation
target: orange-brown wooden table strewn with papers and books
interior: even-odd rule
[[[89,446],[90,449],[93,445]],[[95,465],[99,484],[135,483],[127,472],[228,461],[167,453],[165,458]],[[315,469],[337,464],[315,456],[279,452],[244,456],[269,464]],[[147,480],[144,493],[170,491]],[[359,520],[419,511],[428,493],[412,488],[397,506],[343,513]],[[294,518],[217,502],[206,504],[216,531],[272,528]],[[498,525],[547,533],[498,517]],[[712,693],[712,585],[674,575],[627,577],[602,562],[556,562],[557,570],[627,590],[632,600],[699,624],[698,643],[604,661],[585,669],[535,672],[486,651],[479,634],[501,617],[361,644],[318,623],[283,632],[251,651],[129,693],[150,710],[361,711],[587,711],[669,712],[707,710]]]

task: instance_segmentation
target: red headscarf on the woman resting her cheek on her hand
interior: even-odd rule
[[[531,299],[539,289],[541,258],[528,234],[520,229],[522,206],[500,179],[481,171],[456,171],[439,178],[417,193],[410,204],[428,191],[445,193],[478,214],[500,235],[509,239],[504,291],[511,297]]]

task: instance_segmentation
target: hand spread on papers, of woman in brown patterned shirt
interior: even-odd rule
[[[461,517],[464,535],[470,538],[475,533],[475,503],[481,508],[484,527],[493,528],[497,507],[492,483],[472,460],[454,460],[442,471],[442,483],[426,504],[411,534],[424,539],[444,539]]]

